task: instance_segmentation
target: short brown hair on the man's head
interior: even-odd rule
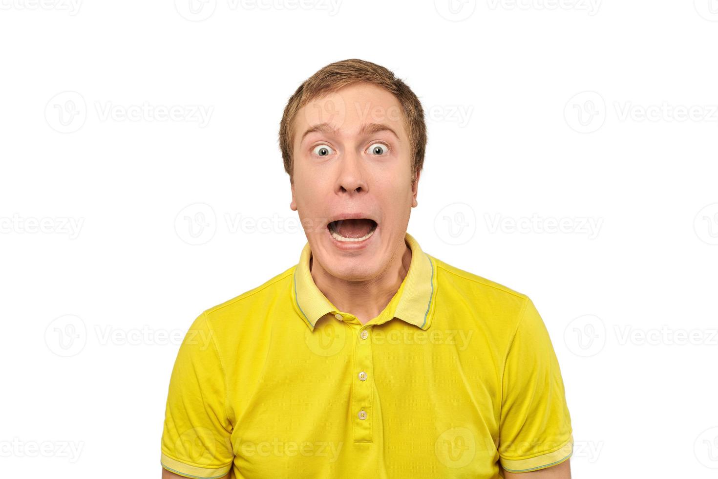
[[[294,139],[294,119],[299,110],[314,100],[334,93],[354,83],[370,83],[387,90],[396,97],[404,113],[404,124],[409,133],[411,144],[412,177],[424,167],[426,151],[426,124],[424,109],[411,88],[393,74],[391,70],[366,60],[352,58],[330,63],[299,85],[284,107],[284,115],[279,124],[279,149],[284,159],[284,171],[294,184],[294,159],[292,142]]]

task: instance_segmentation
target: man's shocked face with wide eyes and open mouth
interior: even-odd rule
[[[299,111],[293,146],[291,208],[314,261],[348,281],[383,274],[405,251],[419,182],[396,98],[363,83],[330,93]]]

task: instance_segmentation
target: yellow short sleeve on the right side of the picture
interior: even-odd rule
[[[503,372],[499,456],[510,473],[549,468],[573,453],[571,417],[549,332],[526,298]]]

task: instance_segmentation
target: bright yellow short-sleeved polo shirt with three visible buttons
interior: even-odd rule
[[[192,323],[162,467],[189,478],[500,478],[572,454],[559,363],[533,302],[421,251],[362,325],[311,250]]]

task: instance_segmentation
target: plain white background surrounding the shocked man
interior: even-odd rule
[[[0,475],[159,477],[184,332],[304,246],[286,100],[357,57],[427,113],[409,233],[541,312],[574,477],[716,477],[717,1],[74,1],[0,0]]]

